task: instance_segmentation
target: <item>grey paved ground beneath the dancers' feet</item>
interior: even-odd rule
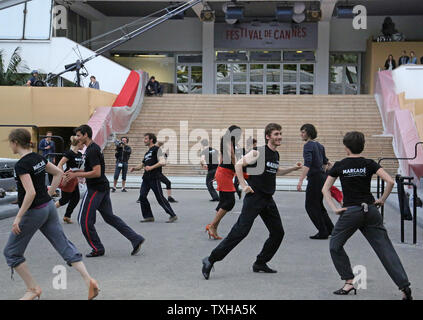
[[[336,299],[331,292],[342,285],[332,265],[328,241],[309,240],[315,233],[303,209],[304,193],[277,192],[278,204],[286,237],[270,265],[278,270],[275,275],[256,274],[251,264],[261,249],[267,231],[257,219],[249,236],[228,257],[215,265],[209,281],[201,275],[201,259],[218,242],[209,240],[204,227],[214,216],[215,203],[209,202],[206,191],[175,190],[179,203],[174,209],[179,216],[175,224],[164,223],[168,216],[150,198],[156,222],[140,224],[140,208],[135,203],[138,192],[118,191],[112,194],[115,212],[130,226],[146,237],[138,256],[131,257],[129,242],[111,229],[99,217],[97,230],[106,247],[106,255],[85,259],[88,270],[101,286],[99,299]],[[152,196],[152,194],[150,195]],[[221,223],[220,233],[226,235],[236,221],[242,202]],[[59,210],[62,217],[64,210]],[[76,218],[77,213],[74,214]],[[331,216],[335,221],[336,217]],[[7,241],[13,218],[0,220],[0,247]],[[405,269],[414,295],[423,298],[423,232],[419,229],[419,245],[399,243],[399,216],[386,210],[386,226]],[[71,241],[83,253],[89,247],[77,224],[64,225]],[[411,225],[407,225],[411,242]],[[384,271],[370,246],[360,233],[346,246],[353,265],[367,268],[367,289],[357,296],[342,299],[400,299],[401,294]],[[55,290],[52,272],[62,264],[60,256],[48,241],[37,233],[29,245],[26,258],[31,271],[43,288],[44,299],[85,299],[86,289],[78,274],[67,268],[67,290]],[[4,257],[0,257],[0,299],[16,299],[23,294],[23,283],[18,275],[10,279]]]

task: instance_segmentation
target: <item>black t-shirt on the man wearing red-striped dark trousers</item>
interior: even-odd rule
[[[92,171],[93,168],[97,165],[101,166],[101,176],[98,178],[86,178],[87,181],[87,188],[93,189],[97,191],[107,191],[109,190],[109,180],[107,180],[104,172],[105,172],[105,165],[104,165],[104,156],[101,152],[100,147],[95,142],[91,142],[91,144],[85,150],[84,155],[84,171],[89,172]]]

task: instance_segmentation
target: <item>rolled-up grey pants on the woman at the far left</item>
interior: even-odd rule
[[[29,241],[37,230],[50,241],[56,251],[70,266],[73,262],[82,260],[82,255],[63,232],[59,222],[56,206],[53,201],[41,209],[30,209],[22,217],[19,225],[21,233],[11,233],[4,248],[4,256],[9,267],[16,268],[25,261],[24,253]]]

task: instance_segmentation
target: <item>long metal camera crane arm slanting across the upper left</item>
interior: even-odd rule
[[[199,4],[200,2],[202,2],[203,0],[189,0],[187,2],[184,2],[181,5],[178,5],[175,8],[175,5],[172,5],[170,7],[167,7],[166,9],[164,9],[166,11],[166,13],[148,23],[146,23],[145,25],[141,26],[138,29],[135,29],[125,35],[123,35],[122,37],[120,37],[119,39],[116,39],[114,41],[112,41],[111,43],[97,49],[95,51],[95,53],[86,58],[86,59],[78,59],[75,63],[71,63],[68,65],[65,65],[65,70],[57,73],[57,74],[49,74],[47,76],[47,79],[45,80],[45,83],[47,86],[51,85],[51,81],[56,79],[57,77],[61,76],[62,74],[66,73],[66,72],[72,72],[75,71],[76,72],[76,86],[80,87],[81,86],[81,75],[83,75],[83,73],[81,73],[81,69],[84,68],[84,65],[88,62],[91,61],[92,59],[98,57],[99,55],[102,55],[118,46],[120,46],[121,44],[124,44],[125,42],[128,42],[129,40],[143,34],[144,32],[158,26],[159,24],[165,22],[166,20],[183,13],[185,10],[188,10],[189,8],[194,7],[195,5]],[[163,11],[163,10],[160,10]]]

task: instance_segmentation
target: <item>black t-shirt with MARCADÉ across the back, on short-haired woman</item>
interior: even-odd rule
[[[339,177],[344,194],[344,207],[359,206],[363,202],[375,202],[370,191],[372,176],[381,168],[379,164],[366,158],[345,158],[335,162],[329,171],[331,177]]]

